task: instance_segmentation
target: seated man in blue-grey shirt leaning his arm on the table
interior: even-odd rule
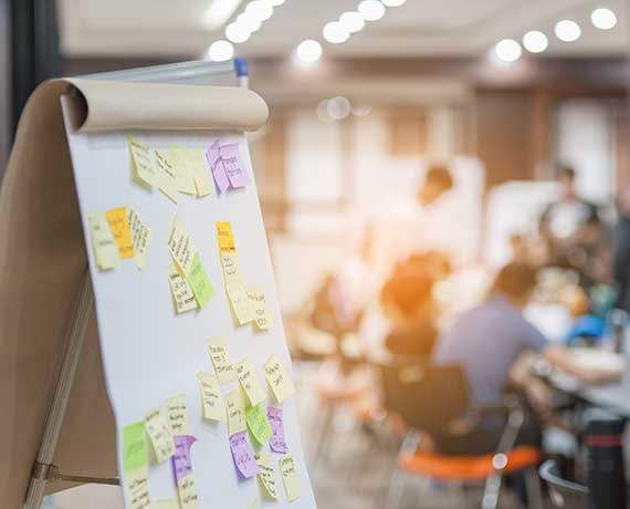
[[[538,414],[550,407],[550,392],[529,375],[521,354],[540,352],[554,366],[587,383],[616,378],[620,373],[584,370],[573,361],[565,346],[549,343],[524,316],[523,309],[536,284],[536,272],[522,263],[510,263],[496,276],[490,295],[479,307],[463,313],[439,337],[433,360],[438,364],[458,363],[469,383],[471,406],[501,406],[510,384],[521,388],[525,409],[532,404]],[[527,412],[526,412],[527,413]],[[538,439],[535,413],[522,430],[519,443]],[[444,454],[476,455],[493,451],[504,427],[504,416],[491,415],[475,423],[474,429],[433,437]]]

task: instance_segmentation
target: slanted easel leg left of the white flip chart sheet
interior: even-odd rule
[[[92,290],[92,279],[90,278],[90,271],[86,268],[83,282],[81,283],[76,311],[67,332],[67,346],[54,389],[54,396],[46,419],[44,435],[42,443],[40,444],[38,459],[35,465],[33,465],[33,474],[29,485],[29,491],[27,494],[24,509],[40,509],[46,482],[53,480],[51,472],[54,470],[54,453],[65,411],[67,408],[67,402],[70,399],[70,393],[74,382],[74,374],[76,373],[78,359],[81,357],[83,340],[85,337],[87,324],[90,323],[93,310],[94,293]]]

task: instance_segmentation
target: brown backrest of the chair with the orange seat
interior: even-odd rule
[[[385,407],[412,428],[441,430],[469,408],[466,381],[458,364],[398,359],[382,364],[381,375]]]

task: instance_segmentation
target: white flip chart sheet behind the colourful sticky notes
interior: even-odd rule
[[[67,120],[66,101],[62,98],[64,117]],[[135,136],[158,149],[169,146],[207,149],[218,138],[239,144],[242,162],[252,179],[248,187],[222,195],[214,191],[202,198],[179,193],[176,205],[159,189],[150,191],[132,179],[127,132],[75,133],[66,121],[66,133],[94,287],[106,385],[118,432],[120,477],[124,471],[122,428],[143,420],[147,411],[162,405],[167,398],[185,393],[190,434],[198,439],[191,455],[200,508],[248,508],[253,499],[260,500],[260,507],[315,508],[298,433],[296,395],[282,405],[288,454],[295,458],[302,486],[302,497],[291,503],[277,469],[280,455],[270,453],[276,470],[279,500],[267,501],[261,496],[258,479],[240,479],[232,461],[225,423],[201,418],[196,373],[213,373],[207,353],[210,336],[224,339],[232,362],[249,356],[265,387],[262,364],[272,353],[291,373],[291,359],[244,135],[234,132],[134,131]],[[146,266],[138,270],[133,260],[126,260],[114,270],[99,271],[91,249],[87,214],[127,205],[133,206],[141,220],[153,229],[154,238]],[[171,263],[167,236],[176,214],[189,231],[214,287],[214,295],[203,309],[183,314],[175,313],[167,279]],[[231,222],[243,279],[246,284],[260,285],[264,290],[273,321],[269,331],[255,332],[249,325],[234,324],[224,292],[216,221]],[[237,384],[222,384],[223,395],[234,389]],[[98,440],[98,437],[94,439]],[[269,453],[269,446],[262,450]],[[170,460],[150,464],[149,486],[153,500],[177,499]]]

